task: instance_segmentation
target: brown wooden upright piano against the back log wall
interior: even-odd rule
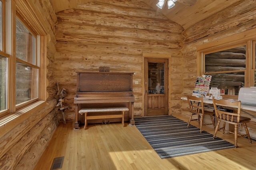
[[[81,108],[128,107],[129,111],[125,112],[124,121],[130,121],[130,124],[134,125],[132,72],[77,71],[76,74],[74,129],[79,129],[80,123],[84,122],[84,115],[78,113]],[[108,119],[108,123],[121,121],[119,119]],[[88,120],[88,123],[102,123],[104,121],[106,120],[95,119]]]

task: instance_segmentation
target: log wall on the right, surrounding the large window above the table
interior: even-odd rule
[[[206,20],[192,25],[183,32],[183,35],[185,36],[185,45],[182,49],[182,52],[184,53],[182,69],[184,72],[182,73],[183,92],[180,97],[184,97],[187,94],[192,94],[194,89],[195,80],[197,77],[196,48],[199,45],[202,45],[206,39],[208,39],[207,43],[210,43],[211,41],[215,41],[217,39],[219,40],[227,36],[236,35],[237,33],[241,33],[243,31],[255,29],[255,3],[255,0],[241,0],[229,8],[218,12],[218,14],[214,14],[213,16],[206,18]],[[242,57],[244,57],[244,55],[236,56],[236,58]],[[182,114],[189,114],[187,111],[187,101],[179,100],[179,102],[176,102],[176,104],[177,107],[182,109]],[[250,111],[248,112],[250,113]],[[247,116],[252,119],[251,122],[248,123],[248,127],[250,127],[250,135],[256,138],[256,119],[246,114],[243,114],[243,116]],[[243,130],[240,129],[240,131]]]

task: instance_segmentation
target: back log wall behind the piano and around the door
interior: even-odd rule
[[[142,54],[171,54],[174,72],[182,61],[184,29],[155,12],[143,2],[96,0],[56,13],[55,75],[60,87],[68,91],[64,100],[70,105],[65,110],[67,121],[74,121],[75,71],[98,71],[100,66],[110,67],[110,72],[136,73],[133,80],[139,84],[133,84],[134,114],[142,116]],[[172,76],[172,98],[181,93],[180,80]],[[176,107],[171,109],[176,111]],[[62,120],[60,112],[58,118]]]

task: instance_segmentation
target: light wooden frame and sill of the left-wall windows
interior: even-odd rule
[[[2,1],[5,2],[5,1]],[[19,122],[24,121],[33,114],[38,113],[46,105],[47,91],[46,91],[46,41],[47,41],[47,31],[45,29],[44,23],[37,18],[35,12],[37,10],[34,4],[27,4],[26,0],[7,0],[6,4],[3,5],[5,9],[4,19],[5,22],[4,29],[6,29],[3,35],[3,51],[0,54],[8,58],[8,90],[7,90],[7,108],[6,110],[0,111],[0,131],[1,134],[6,133],[14,125]],[[27,21],[25,23],[26,27],[35,33],[37,37],[36,42],[36,55],[40,55],[36,65],[39,64],[39,88],[38,88],[38,99],[33,100],[31,103],[16,107],[16,90],[15,90],[15,73],[16,73],[16,14],[19,16],[19,20]],[[6,22],[8,21],[8,22]],[[22,22],[24,23],[24,22]],[[27,26],[29,25],[29,27]]]

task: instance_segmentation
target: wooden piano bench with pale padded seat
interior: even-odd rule
[[[88,112],[106,112],[106,111],[122,111],[122,115],[88,115]],[[127,107],[103,107],[103,108],[82,108],[78,111],[81,115],[84,114],[84,129],[87,127],[87,120],[91,119],[109,119],[109,118],[122,118],[124,127],[124,111],[129,111]]]

